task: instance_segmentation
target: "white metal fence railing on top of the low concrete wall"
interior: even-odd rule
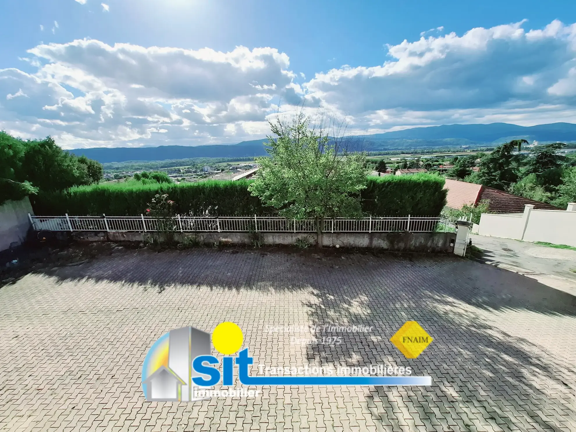
[[[275,232],[315,233],[314,219],[278,217],[191,217],[153,218],[140,216],[32,216],[36,231],[105,231],[105,232]],[[325,233],[429,233],[453,230],[453,223],[444,217],[384,217],[361,219],[324,219]]]

